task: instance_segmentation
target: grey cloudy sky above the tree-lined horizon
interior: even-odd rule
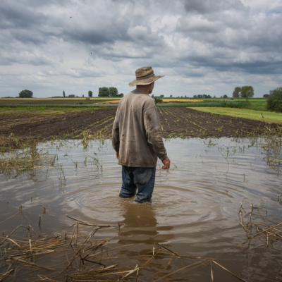
[[[282,87],[282,0],[0,1],[0,97],[126,94],[142,66],[157,95],[262,97]]]

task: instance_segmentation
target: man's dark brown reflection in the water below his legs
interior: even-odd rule
[[[138,204],[124,200],[122,205],[124,220],[119,233],[119,243],[145,243],[152,245],[155,241],[164,242],[174,235],[161,235],[159,231],[171,230],[172,226],[157,227],[156,210],[154,204]],[[158,240],[161,236],[161,241]]]

